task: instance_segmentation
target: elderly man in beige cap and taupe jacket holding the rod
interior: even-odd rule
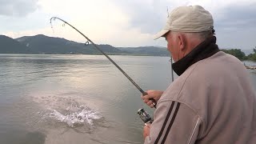
[[[174,9],[157,38],[164,37],[179,77],[164,91],[142,96],[154,122],[145,143],[256,142],[256,96],[245,66],[218,49],[213,18],[202,6]]]

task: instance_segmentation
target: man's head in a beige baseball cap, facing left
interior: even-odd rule
[[[180,6],[174,9],[156,38],[165,37],[167,49],[177,62],[195,46],[214,35],[214,20],[202,6]]]

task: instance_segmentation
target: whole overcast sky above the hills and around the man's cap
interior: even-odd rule
[[[70,22],[97,44],[166,46],[154,34],[165,26],[167,7],[201,5],[214,17],[221,48],[256,46],[256,0],[0,0],[0,34],[11,38],[45,34],[76,42],[82,36],[62,22]]]

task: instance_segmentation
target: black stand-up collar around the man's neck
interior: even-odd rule
[[[184,73],[184,71],[202,59],[209,58],[219,51],[218,45],[216,45],[216,37],[207,38],[204,42],[200,43],[189,54],[178,62],[175,62],[172,67],[178,76]]]

